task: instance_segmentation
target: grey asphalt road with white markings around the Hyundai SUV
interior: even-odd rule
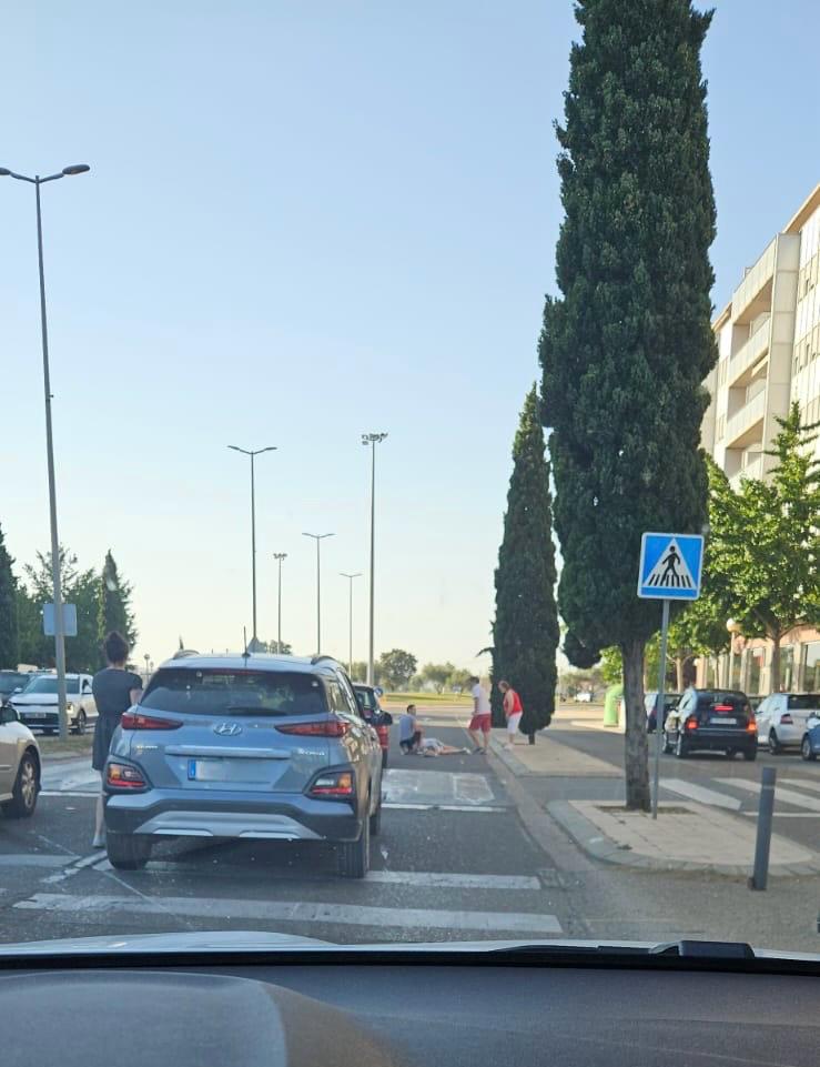
[[[463,709],[426,717],[428,735],[467,743],[456,725]],[[570,722],[553,729],[565,744],[620,766],[621,737]],[[733,797],[742,812],[756,798],[737,782],[753,784],[769,761],[782,778],[820,786],[820,766],[791,756],[761,755],[756,764],[668,757],[662,769],[678,788]],[[34,817],[0,819],[1,940],[250,929],[335,944],[706,937],[820,950],[820,879],[778,879],[756,894],[742,879],[607,866],[581,853],[540,807],[555,798],[617,798],[618,776],[517,777],[494,757],[424,759],[394,747],[373,869],[358,883],[336,876],[330,849],[273,843],[168,842],[144,870],[115,872],[104,852],[91,848],[95,788],[88,759],[52,761]],[[816,795],[820,801],[820,788]],[[778,832],[783,826],[817,847],[817,818],[781,818]]]

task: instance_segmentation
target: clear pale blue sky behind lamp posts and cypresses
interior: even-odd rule
[[[820,178],[806,0],[718,0],[703,62],[722,306]],[[43,190],[60,534],[112,547],[139,655],[260,635],[326,651],[367,570],[379,452],[377,652],[470,665],[488,643],[509,450],[537,376],[560,223],[551,123],[571,3],[32,0],[6,12],[0,163]],[[49,542],[31,190],[0,183],[0,522]],[[356,584],[354,655],[366,651]]]

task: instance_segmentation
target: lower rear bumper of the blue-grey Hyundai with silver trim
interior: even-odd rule
[[[154,837],[345,842],[358,839],[362,819],[345,802],[301,794],[149,789],[108,793],[105,828]]]

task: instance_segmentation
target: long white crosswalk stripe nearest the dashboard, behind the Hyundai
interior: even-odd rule
[[[476,930],[480,933],[560,934],[555,915],[528,912],[445,912],[437,908],[381,908],[354,904],[313,902],[236,900],[226,897],[68,896],[36,893],[13,905],[32,912],[70,912],[107,915],[132,914],[190,916],[192,918],[256,919],[275,923],[324,923],[341,926],[397,929]]]

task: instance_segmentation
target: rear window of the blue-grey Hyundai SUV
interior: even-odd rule
[[[321,715],[324,688],[311,674],[164,667],[148,684],[140,705],[184,715]]]

